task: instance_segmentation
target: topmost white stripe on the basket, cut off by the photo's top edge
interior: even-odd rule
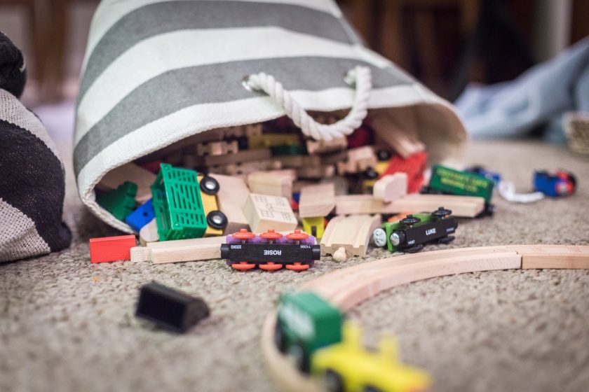
[[[149,4],[161,3],[165,0],[102,0],[98,5],[95,16],[90,25],[90,34],[88,36],[88,45],[86,46],[86,55],[84,56],[82,64],[82,72],[86,69],[86,63],[90,53],[94,50],[100,38],[113,27],[116,22],[123,18],[128,13],[133,12],[138,8],[147,6]],[[184,0],[184,1],[198,1],[198,0]],[[221,0],[217,0],[221,1]],[[251,0],[238,0],[248,1]],[[332,0],[257,0],[257,3],[277,3],[277,4],[291,4],[293,6],[302,6],[320,10],[334,15],[336,18],[341,18],[341,10]]]

